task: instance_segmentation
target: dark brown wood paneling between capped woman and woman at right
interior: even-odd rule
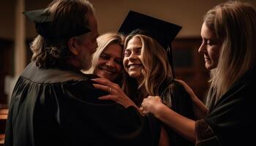
[[[184,80],[204,101],[208,92],[208,71],[203,55],[198,53],[200,38],[175,39],[173,41],[173,65],[176,78]]]

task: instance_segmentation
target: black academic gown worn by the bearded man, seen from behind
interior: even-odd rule
[[[157,145],[159,123],[134,107],[97,99],[106,93],[75,71],[33,62],[12,93],[6,146]]]

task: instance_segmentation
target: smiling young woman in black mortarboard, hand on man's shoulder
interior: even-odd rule
[[[147,96],[160,96],[167,107],[194,119],[189,94],[174,80],[172,72],[170,43],[180,29],[176,24],[130,11],[119,29],[119,32],[127,34],[123,60],[126,71],[122,82],[124,91],[113,82],[94,79],[97,82],[95,88],[109,93],[99,99],[112,100],[124,107],[137,107],[139,110]],[[194,145],[165,124],[158,132],[160,137],[155,141],[159,145]]]

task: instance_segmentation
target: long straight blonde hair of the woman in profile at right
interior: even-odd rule
[[[221,97],[255,66],[256,10],[250,4],[227,1],[210,9],[204,22],[222,41],[219,63],[211,70],[210,80],[211,88]]]

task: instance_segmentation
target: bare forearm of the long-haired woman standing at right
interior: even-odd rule
[[[153,114],[178,134],[181,134],[185,139],[195,142],[194,120],[179,115],[164,104],[157,107]]]

